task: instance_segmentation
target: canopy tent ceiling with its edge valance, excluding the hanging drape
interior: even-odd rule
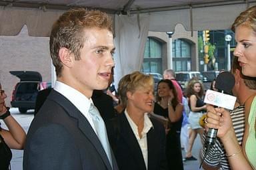
[[[149,17],[149,31],[227,29],[250,0],[12,0],[0,1],[0,35],[17,35],[27,25],[29,35],[47,37],[53,22],[67,9],[87,7],[110,14]],[[113,17],[114,15],[112,15]]]

